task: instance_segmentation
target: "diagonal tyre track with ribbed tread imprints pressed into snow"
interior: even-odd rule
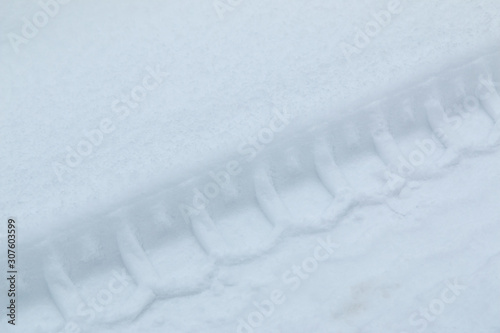
[[[430,78],[412,96],[389,96],[309,128],[300,140],[263,151],[238,177],[219,174],[217,195],[195,193],[193,200],[192,189],[206,185],[195,179],[96,217],[87,229],[60,230],[29,249],[37,255],[25,254],[47,259],[29,265],[28,274],[44,280],[32,278],[24,288],[47,287],[39,302],[52,303],[60,323],[50,332],[133,320],[155,301],[207,290],[219,265],[255,260],[290,235],[334,228],[356,207],[387,204],[462,158],[492,153],[500,144],[499,55]],[[369,174],[358,172],[367,166]],[[87,318],[84,286],[112,285],[117,270],[130,283]]]

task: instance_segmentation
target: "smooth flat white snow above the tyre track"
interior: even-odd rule
[[[220,20],[211,1],[71,1],[16,54],[6,34],[20,34],[22,18],[40,6],[2,1],[0,149],[8,158],[0,171],[12,181],[1,202],[42,225],[77,215],[236,151],[273,107],[307,118],[370,101],[500,39],[497,1],[403,1],[349,63],[340,43],[353,44],[387,4],[242,1]],[[118,121],[112,103],[147,66],[168,78]],[[116,131],[61,183],[52,164],[103,118],[116,120]]]

